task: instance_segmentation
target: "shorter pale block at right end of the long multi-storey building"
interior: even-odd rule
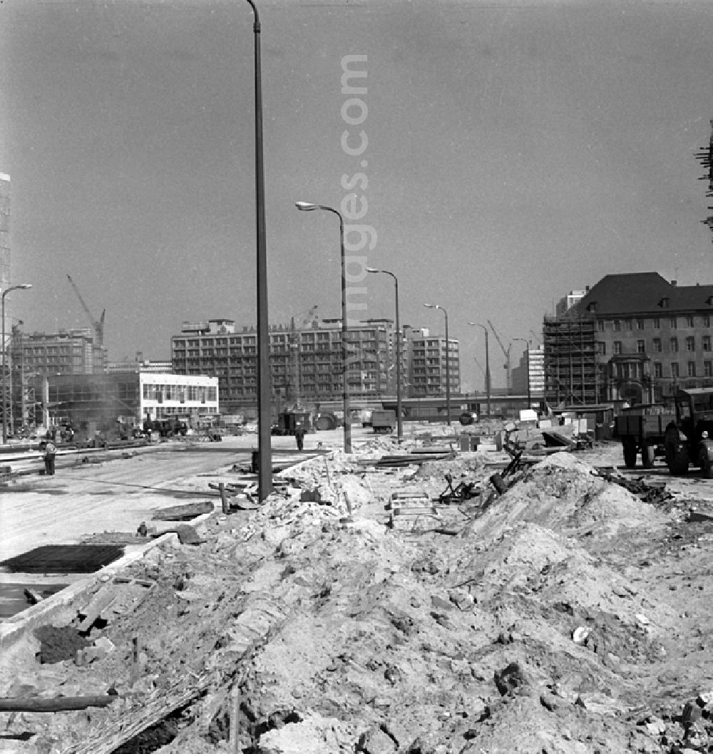
[[[446,360],[450,393],[460,392],[460,356],[456,339],[432,335],[427,328],[407,329],[408,396],[435,397],[446,394]]]

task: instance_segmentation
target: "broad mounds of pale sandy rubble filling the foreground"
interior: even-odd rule
[[[201,544],[149,551],[121,587],[148,591],[109,602],[74,657],[39,664],[23,636],[2,697],[116,698],[0,713],[5,737],[32,754],[711,750],[713,523],[642,501],[586,453],[502,494],[482,455],[417,473],[360,458],[293,467],[259,510],[199,524]],[[446,474],[489,493],[438,504]],[[396,502],[450,524],[389,528]],[[98,579],[89,599],[118,588]]]

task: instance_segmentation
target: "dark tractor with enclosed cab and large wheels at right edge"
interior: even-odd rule
[[[676,415],[665,430],[666,465],[672,474],[686,474],[692,464],[705,479],[713,478],[713,388],[680,389]]]

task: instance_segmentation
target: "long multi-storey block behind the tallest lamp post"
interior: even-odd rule
[[[349,326],[347,380],[353,400],[379,400],[389,389],[391,320]],[[275,403],[315,405],[343,395],[341,320],[321,320],[300,329],[273,326],[270,378]],[[239,413],[257,402],[257,332],[235,329],[234,320],[184,322],[171,338],[174,373],[214,375],[220,408]]]

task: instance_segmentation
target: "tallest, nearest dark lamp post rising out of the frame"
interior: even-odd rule
[[[260,17],[253,0],[255,49],[255,205],[257,214],[257,455],[258,497],[272,492],[270,447],[270,335],[267,308],[267,248],[265,241],[265,170],[263,167],[263,85],[260,68]]]

